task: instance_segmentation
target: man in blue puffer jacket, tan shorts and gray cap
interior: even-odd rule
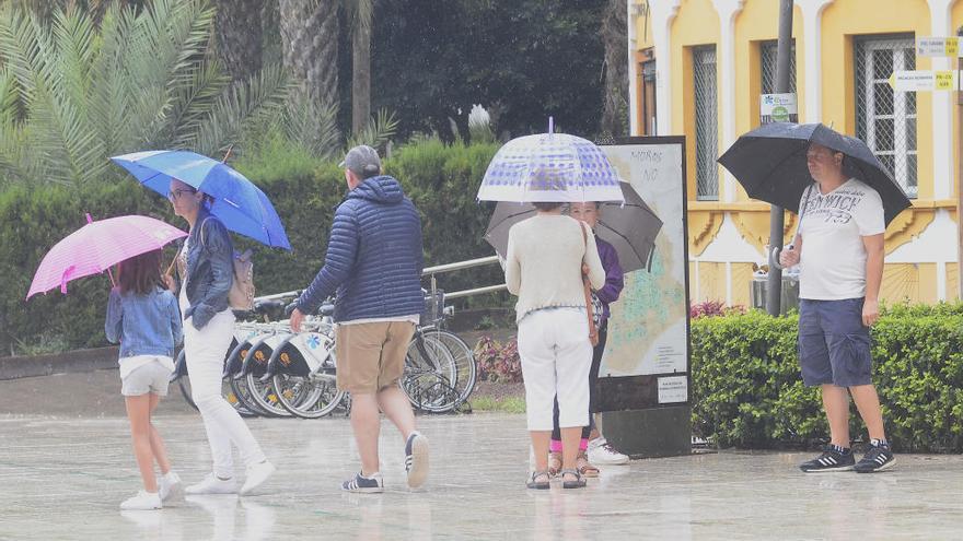
[[[361,471],[349,492],[383,492],[379,409],[405,438],[408,486],[428,477],[428,439],[398,387],[408,342],[425,306],[421,293],[421,220],[402,186],[381,174],[371,146],[355,146],[340,164],[349,192],[335,211],[324,267],[297,301],[291,329],[335,291],[338,388],[351,393],[351,427]]]

